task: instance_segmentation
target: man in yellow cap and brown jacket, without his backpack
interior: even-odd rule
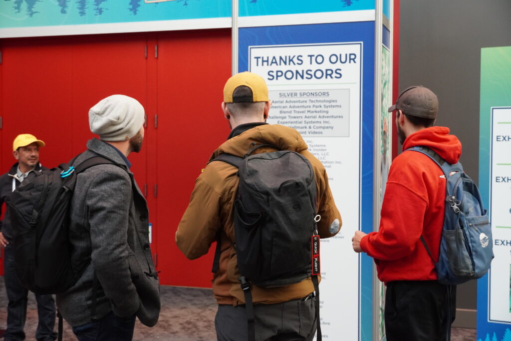
[[[313,206],[315,212],[321,216],[317,223],[317,234],[321,238],[335,236],[341,227],[341,217],[328,185],[327,173],[321,162],[307,150],[307,144],[298,131],[286,126],[266,123],[271,102],[268,99],[268,87],[264,79],[250,72],[239,73],[227,80],[223,99],[221,104],[223,116],[228,121],[231,132],[227,141],[214,151],[210,161],[224,154],[235,155],[239,159],[245,153],[250,153],[247,150],[258,145],[264,145],[264,147],[254,150],[254,154],[264,155],[259,153],[276,150],[298,153],[301,156],[296,155],[297,158],[304,157],[308,160],[311,166],[310,169],[307,168],[308,174],[310,176],[313,173],[312,177],[315,178],[315,181],[309,180],[309,183],[315,182],[311,195],[317,198]],[[241,171],[240,168],[239,173]],[[292,173],[292,170],[284,168],[284,173],[287,172]],[[311,276],[310,271],[309,273],[304,271],[304,274],[300,274],[303,277],[298,281],[293,280],[283,285],[268,287],[256,285],[248,277],[249,275],[240,274],[242,264],[240,243],[235,245],[235,220],[238,216],[235,211],[240,210],[240,200],[237,196],[240,177],[237,173],[238,168],[233,164],[208,163],[195,183],[189,206],[184,212],[176,233],[177,246],[189,259],[196,259],[207,254],[212,242],[217,240],[215,274],[213,275],[213,294],[218,303],[215,318],[217,338],[220,341],[311,340],[316,332],[316,317],[319,310],[319,305],[314,298],[317,282],[313,284],[313,278],[316,281],[316,276]],[[266,172],[267,177],[268,174],[270,172]],[[277,178],[275,175],[271,176],[273,180]],[[281,186],[284,185],[285,183],[282,183]],[[292,219],[298,215],[296,212],[301,211],[301,207],[295,202],[289,203],[292,209],[288,212],[288,216]],[[303,211],[306,210],[304,206]],[[269,208],[269,211],[277,212],[274,205]],[[313,217],[314,214],[310,216],[311,225]],[[266,228],[267,225],[264,227]],[[298,229],[293,226],[290,230],[296,233]],[[312,229],[310,232],[305,241],[309,247]],[[254,245],[255,239],[253,238],[253,243],[248,242],[248,244]],[[286,243],[284,238],[274,239],[276,243]],[[306,253],[305,267],[310,270],[311,250],[307,250],[307,246],[303,244],[297,245],[296,249]],[[278,253],[283,254],[281,249]],[[275,265],[280,265],[283,262],[276,263],[278,264]],[[242,280],[244,276],[247,276],[250,282],[249,287]],[[276,280],[282,280],[282,277]],[[249,289],[251,293],[249,298],[245,295],[246,289]],[[250,302],[253,303],[253,310]]]

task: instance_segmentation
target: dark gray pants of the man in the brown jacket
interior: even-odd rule
[[[255,304],[255,340],[312,340],[316,333],[315,307],[314,298],[277,304]],[[246,340],[248,327],[245,305],[219,305],[215,328],[218,341]]]

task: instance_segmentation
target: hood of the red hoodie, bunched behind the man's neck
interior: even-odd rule
[[[461,142],[457,137],[449,134],[447,127],[435,126],[415,131],[406,138],[403,150],[415,146],[424,146],[434,150],[450,164],[457,163],[461,156]]]

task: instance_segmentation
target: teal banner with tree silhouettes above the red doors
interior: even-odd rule
[[[0,0],[0,29],[231,16],[231,0]]]

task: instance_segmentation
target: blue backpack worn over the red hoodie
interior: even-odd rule
[[[477,185],[463,172],[459,162],[451,165],[427,147],[407,150],[428,155],[442,168],[447,179],[444,227],[438,262],[435,263],[438,282],[461,284],[483,277],[494,257],[493,239],[490,220]],[[421,241],[435,262],[423,236]]]

